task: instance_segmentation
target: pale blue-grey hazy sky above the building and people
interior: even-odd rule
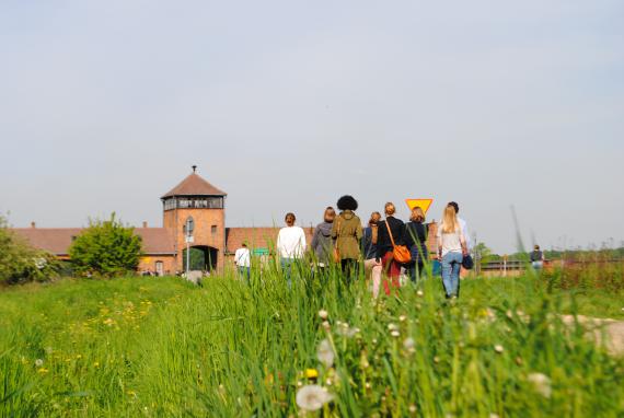
[[[228,227],[308,227],[351,194],[363,222],[455,200],[500,254],[517,232],[620,245],[623,19],[621,0],[3,0],[0,213],[159,227],[197,164]]]

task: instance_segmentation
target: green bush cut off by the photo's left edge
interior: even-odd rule
[[[15,235],[0,214],[0,283],[50,280],[58,276],[58,266],[51,254],[33,248]]]

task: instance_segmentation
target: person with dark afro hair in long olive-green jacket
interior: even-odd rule
[[[347,282],[349,282],[355,279],[358,274],[362,223],[355,213],[358,209],[358,202],[353,196],[347,195],[340,197],[336,205],[340,213],[334,221],[332,237],[336,240],[336,248],[338,251],[343,275]]]

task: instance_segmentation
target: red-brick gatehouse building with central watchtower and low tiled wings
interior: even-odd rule
[[[195,269],[221,269],[226,259],[233,258],[236,248],[246,243],[255,254],[274,253],[279,228],[226,228],[227,194],[212,186],[196,173],[184,178],[177,186],[161,197],[163,225],[136,228],[143,244],[139,270],[158,275],[183,271],[186,266],[187,235],[190,248],[190,267]],[[190,225],[190,233],[186,227]],[[61,259],[69,259],[69,247],[82,229],[80,228],[31,228],[13,229],[31,245],[48,251]],[[312,230],[304,229],[308,244]]]

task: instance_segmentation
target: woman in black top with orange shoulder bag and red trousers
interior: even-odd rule
[[[378,239],[377,239],[377,260],[381,262],[383,271],[389,277],[389,280],[383,281],[383,290],[385,294],[390,294],[390,287],[398,288],[401,286],[398,277],[401,276],[401,264],[394,260],[392,254],[394,247],[392,240],[388,232],[389,228],[394,239],[395,245],[405,244],[405,224],[402,220],[394,218],[396,207],[392,202],[385,204],[384,213],[385,220],[379,222]],[[390,281],[390,283],[389,283]]]

